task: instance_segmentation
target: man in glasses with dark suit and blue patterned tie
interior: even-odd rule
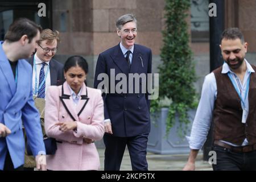
[[[45,29],[40,34],[40,40],[36,45],[36,53],[28,62],[33,68],[32,88],[35,102],[38,98],[43,98],[46,90],[50,85],[61,85],[64,82],[63,64],[59,63],[52,57],[57,52],[57,44],[60,42],[59,32]],[[42,106],[44,108],[44,106]],[[39,108],[38,108],[39,109]],[[40,111],[41,109],[39,109]],[[42,114],[41,114],[42,115]],[[41,125],[43,135],[46,136],[44,131],[44,118],[41,118]],[[35,160],[32,156],[25,155],[24,170],[33,170],[35,167]]]

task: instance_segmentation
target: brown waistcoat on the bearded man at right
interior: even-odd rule
[[[251,65],[254,71],[256,67]],[[213,71],[217,83],[217,99],[213,110],[214,140],[225,140],[241,145],[247,138],[249,144],[256,143],[256,74],[250,74],[248,92],[249,115],[246,123],[242,123],[241,100],[228,74],[222,74],[222,67]]]

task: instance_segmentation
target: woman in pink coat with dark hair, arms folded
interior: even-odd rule
[[[47,156],[49,170],[98,170],[100,158],[92,142],[104,135],[101,90],[84,84],[88,64],[72,56],[64,64],[66,81],[49,86],[46,93],[45,129],[57,140],[55,155]]]

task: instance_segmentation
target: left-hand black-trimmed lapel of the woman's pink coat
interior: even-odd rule
[[[67,113],[69,114],[69,116],[73,119],[73,121],[78,121],[78,117],[77,117],[77,113],[76,110],[73,106],[73,101],[71,98],[71,93],[70,90],[68,88],[68,84],[67,82],[64,82],[63,86],[62,86],[62,92],[61,92],[61,96],[60,96],[60,101],[63,104],[63,106],[65,107]]]

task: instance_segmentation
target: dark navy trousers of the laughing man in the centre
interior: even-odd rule
[[[106,146],[104,170],[119,171],[127,145],[133,171],[147,171],[147,137],[148,134],[135,137],[114,137],[105,134],[103,138]]]

